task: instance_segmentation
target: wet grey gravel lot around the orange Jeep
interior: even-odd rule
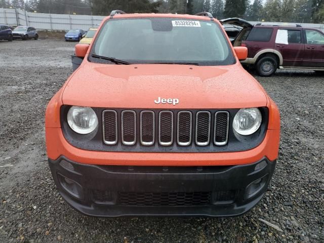
[[[324,242],[324,76],[312,71],[257,77],[282,131],[272,183],[250,213],[102,219],[69,208],[47,164],[44,114],[72,72],[74,45],[0,42],[0,242]]]

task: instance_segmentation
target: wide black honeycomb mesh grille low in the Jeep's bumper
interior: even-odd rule
[[[204,206],[211,192],[119,192],[118,197],[125,206]]]

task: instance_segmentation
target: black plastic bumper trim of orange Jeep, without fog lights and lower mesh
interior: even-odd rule
[[[66,160],[73,170],[60,164]],[[266,166],[254,171],[256,164],[265,160]],[[75,210],[99,217],[120,216],[238,216],[250,211],[263,197],[276,160],[263,158],[253,164],[211,167],[128,167],[96,166],[75,163],[64,156],[49,159],[49,165],[57,188],[65,201]],[[78,199],[61,185],[58,175],[62,175],[82,186],[83,195]],[[252,197],[246,198],[246,188],[252,182],[266,178],[265,184]],[[114,199],[108,204],[98,204],[94,200],[94,190],[136,191],[136,192],[194,192],[235,190],[235,198],[228,204],[211,202],[205,206],[124,206]],[[116,193],[117,194],[117,193]]]

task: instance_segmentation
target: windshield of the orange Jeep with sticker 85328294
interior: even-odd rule
[[[91,54],[130,63],[229,65],[235,61],[218,24],[176,18],[108,20]]]

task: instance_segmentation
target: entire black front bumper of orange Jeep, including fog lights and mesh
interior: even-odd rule
[[[63,156],[49,159],[67,203],[83,214],[103,217],[241,215],[263,197],[275,164],[266,157],[248,165],[196,167],[98,166]],[[262,166],[255,170],[257,165]]]

